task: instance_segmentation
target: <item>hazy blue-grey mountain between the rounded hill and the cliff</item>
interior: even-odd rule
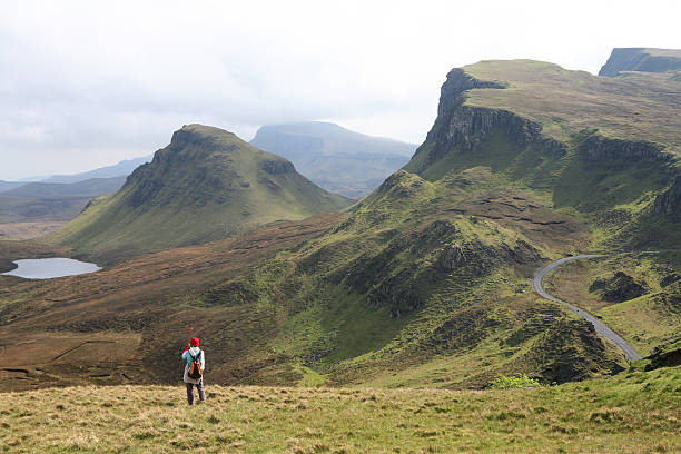
[[[323,188],[352,198],[375,189],[416,149],[412,144],[322,121],[263,126],[250,144],[289,159]]]

